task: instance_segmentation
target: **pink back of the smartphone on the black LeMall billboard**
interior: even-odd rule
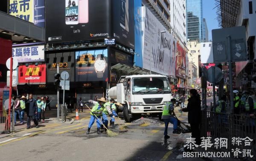
[[[79,0],[79,23],[89,22],[89,0]]]

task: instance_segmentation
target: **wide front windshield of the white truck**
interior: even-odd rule
[[[132,81],[135,95],[171,93],[169,81],[165,77],[133,78]]]

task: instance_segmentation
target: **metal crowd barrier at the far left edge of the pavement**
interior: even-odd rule
[[[10,132],[14,132],[14,112],[13,110],[11,110],[11,124],[9,126],[8,124],[8,114],[9,110],[0,110],[0,133],[4,134],[4,133],[10,133]]]

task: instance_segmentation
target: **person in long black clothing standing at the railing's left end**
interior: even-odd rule
[[[192,138],[195,138],[196,144],[200,145],[201,99],[196,89],[190,89],[189,95],[188,105],[182,111],[189,112],[188,121],[192,131]]]

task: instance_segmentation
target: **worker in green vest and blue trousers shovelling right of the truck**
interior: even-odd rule
[[[167,135],[169,123],[173,124],[172,133],[180,134],[180,132],[178,130],[178,120],[177,120],[177,118],[174,117],[175,116],[175,113],[174,113],[175,102],[176,102],[176,99],[172,98],[171,102],[167,102],[165,104],[165,106],[163,106],[162,120],[165,124],[164,133],[163,133],[165,139],[170,138],[170,136]]]

